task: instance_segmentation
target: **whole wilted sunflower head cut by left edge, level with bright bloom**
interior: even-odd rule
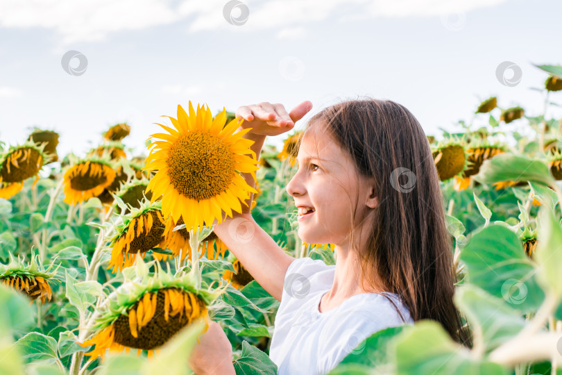
[[[37,146],[27,141],[4,151],[0,156],[0,183],[22,183],[27,178],[37,176],[45,158],[48,158],[43,148],[44,144]]]

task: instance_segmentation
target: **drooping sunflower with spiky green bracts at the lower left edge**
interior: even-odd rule
[[[25,263],[19,257],[15,259],[11,253],[9,254],[10,263],[8,265],[0,264],[0,283],[26,294],[31,298],[31,303],[35,299],[39,299],[42,305],[47,299],[51,301],[52,290],[49,283],[60,281],[56,269],[49,272],[53,263],[48,269],[42,269],[38,265],[38,256],[35,254],[31,256],[29,263]]]

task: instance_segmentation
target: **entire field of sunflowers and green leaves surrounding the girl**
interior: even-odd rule
[[[538,68],[543,113],[491,97],[458,133],[427,137],[472,347],[421,321],[357,342],[331,374],[561,371],[562,119],[547,114],[561,106],[562,66]],[[279,302],[212,224],[253,197],[250,213],[284,251],[335,263],[332,244],[300,241],[285,191],[301,133],[257,158],[234,113],[189,102],[166,117],[142,155],[124,147],[125,123],[79,156],[59,156],[58,134],[40,128],[0,143],[0,374],[191,374],[209,319],[237,374],[277,372]]]

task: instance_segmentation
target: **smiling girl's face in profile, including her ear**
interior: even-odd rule
[[[305,133],[297,163],[298,172],[287,184],[287,192],[295,206],[314,208],[306,215],[299,210],[300,239],[346,246],[351,227],[360,225],[361,218],[377,205],[373,182],[357,174],[350,156],[321,130]]]

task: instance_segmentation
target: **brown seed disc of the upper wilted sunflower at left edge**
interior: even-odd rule
[[[41,159],[41,154],[36,149],[16,149],[2,164],[0,176],[7,183],[22,182],[39,172],[42,167]]]

